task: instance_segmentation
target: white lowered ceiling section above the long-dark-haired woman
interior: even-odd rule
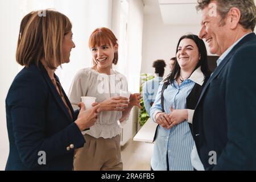
[[[164,24],[198,25],[197,0],[142,0],[144,14],[161,14]],[[256,0],[255,0],[256,3]]]

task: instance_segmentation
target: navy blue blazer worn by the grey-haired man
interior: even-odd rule
[[[255,131],[256,35],[251,33],[209,78],[193,115],[192,134],[205,169],[255,170]]]

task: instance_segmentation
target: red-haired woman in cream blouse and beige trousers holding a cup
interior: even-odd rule
[[[74,169],[122,170],[120,125],[133,106],[141,107],[141,96],[131,94],[129,100],[119,97],[121,90],[127,91],[127,81],[125,76],[112,69],[118,61],[118,43],[111,30],[105,27],[94,30],[89,38],[89,48],[93,67],[77,72],[69,89],[69,99],[76,103],[80,102],[81,96],[96,97],[100,114],[95,125],[85,131],[86,143],[76,153]]]

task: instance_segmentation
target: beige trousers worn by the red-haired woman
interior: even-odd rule
[[[84,135],[86,143],[79,148],[74,159],[75,171],[122,171],[120,139],[117,135],[113,138],[94,138]]]

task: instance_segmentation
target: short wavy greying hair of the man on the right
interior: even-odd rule
[[[196,10],[203,10],[207,7],[213,0],[197,0]],[[256,7],[254,0],[216,0],[218,3],[217,11],[221,15],[221,21],[223,22],[224,18],[228,14],[229,10],[232,7],[236,7],[241,12],[241,18],[239,23],[243,28],[254,31],[256,24]],[[222,25],[225,23],[223,22]]]

